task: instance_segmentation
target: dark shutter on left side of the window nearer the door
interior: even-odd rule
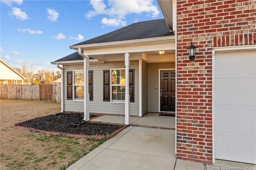
[[[110,70],[103,70],[103,101],[110,101]]]

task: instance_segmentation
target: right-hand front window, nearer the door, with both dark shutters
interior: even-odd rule
[[[129,70],[129,93],[130,102],[134,102],[134,69]],[[124,102],[125,69],[103,70],[103,101],[110,101],[110,98]]]

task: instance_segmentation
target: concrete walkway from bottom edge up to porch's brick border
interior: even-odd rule
[[[174,130],[127,127],[72,164],[68,170],[174,169],[174,147]]]

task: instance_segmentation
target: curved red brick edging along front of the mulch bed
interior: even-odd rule
[[[124,128],[128,127],[128,125],[124,125],[124,127],[114,131],[111,134],[107,135],[85,135],[85,134],[72,134],[72,133],[64,133],[64,132],[53,132],[53,131],[46,131],[46,130],[39,130],[35,128],[28,128],[28,127],[22,127],[22,126],[12,126],[13,128],[21,129],[21,130],[32,130],[34,132],[40,132],[40,133],[45,133],[45,134],[50,134],[50,135],[61,135],[61,136],[68,136],[68,137],[76,137],[76,138],[95,138],[95,139],[109,139],[118,134],[120,131],[122,131]]]

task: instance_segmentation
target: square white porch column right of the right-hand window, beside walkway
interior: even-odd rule
[[[130,94],[129,94],[129,67],[130,54],[124,53],[125,60],[125,124],[130,125]]]

